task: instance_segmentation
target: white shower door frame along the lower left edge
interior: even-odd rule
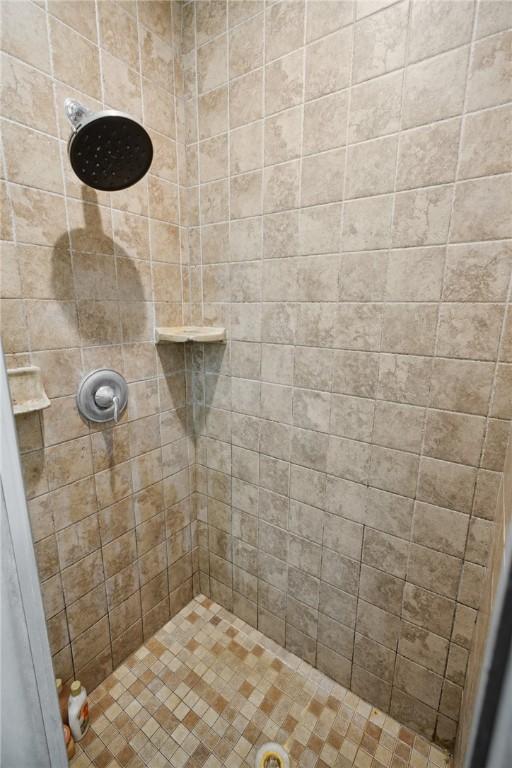
[[[0,763],[3,768],[67,768],[1,342],[0,418]]]

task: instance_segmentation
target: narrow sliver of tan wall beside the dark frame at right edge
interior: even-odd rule
[[[511,433],[512,434],[512,433]],[[496,591],[501,576],[507,535],[512,521],[512,440],[509,440],[504,473],[498,493],[495,532],[489,553],[489,563],[483,586],[482,600],[476,623],[473,645],[469,654],[468,673],[461,704],[460,728],[455,750],[455,765],[462,766],[469,743],[473,708],[478,693],[485,644],[491,624]]]

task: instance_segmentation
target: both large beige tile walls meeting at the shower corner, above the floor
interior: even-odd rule
[[[453,750],[512,417],[512,4],[1,17],[2,338],[51,399],[17,427],[56,675],[95,688],[201,593]],[[80,184],[66,97],[140,120],[150,173]],[[228,341],[155,345],[182,323]],[[98,428],[103,366],[129,404]]]

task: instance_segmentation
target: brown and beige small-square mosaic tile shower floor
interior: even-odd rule
[[[253,768],[267,741],[293,768],[444,768],[442,750],[206,597],[90,697],[73,768]]]

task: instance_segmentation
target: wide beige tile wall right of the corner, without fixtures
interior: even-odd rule
[[[452,746],[512,381],[512,7],[183,7],[201,591]]]

